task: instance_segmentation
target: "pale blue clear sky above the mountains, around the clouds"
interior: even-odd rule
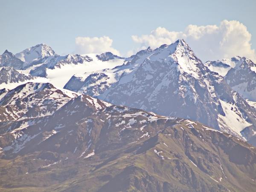
[[[246,26],[251,34],[249,42],[251,49],[255,49],[255,2],[255,0],[246,2],[241,0],[0,0],[0,52],[8,49],[16,53],[44,42],[58,54],[79,51],[81,53],[81,46],[81,49],[77,48],[75,43],[77,37],[107,36],[113,40],[111,47],[120,54],[126,55],[129,51],[131,53],[131,50],[136,51],[151,45],[147,41],[142,42],[138,39],[134,41],[132,35],[137,37],[149,35],[157,27],[183,32],[190,24],[219,26],[223,20],[236,20]],[[84,48],[84,52],[88,52],[88,49]]]

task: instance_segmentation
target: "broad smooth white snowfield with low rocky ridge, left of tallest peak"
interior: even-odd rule
[[[83,74],[106,68],[113,68],[123,64],[123,58],[113,58],[101,61],[96,54],[66,55],[46,59],[30,71],[33,76],[46,77],[58,87],[64,87],[73,74]]]

